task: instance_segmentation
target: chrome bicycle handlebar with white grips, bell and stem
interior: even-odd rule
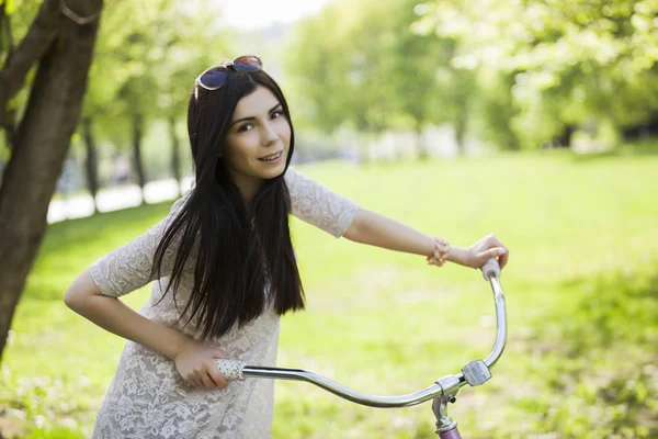
[[[496,364],[507,342],[507,314],[504,294],[500,285],[500,268],[496,259],[489,259],[481,268],[485,280],[489,281],[496,305],[496,342],[491,352],[485,360],[474,360],[462,368],[456,375],[440,378],[433,385],[419,392],[402,396],[376,396],[355,392],[326,376],[318,375],[302,369],[283,369],[248,365],[239,360],[215,360],[217,368],[226,380],[245,380],[246,378],[261,378],[275,380],[306,381],[321,387],[337,396],[356,404],[378,407],[395,408],[409,407],[433,399],[432,409],[436,417],[436,435],[440,439],[462,439],[457,423],[447,415],[447,404],[456,401],[460,389],[469,384],[472,387],[487,382],[491,378],[491,367]]]

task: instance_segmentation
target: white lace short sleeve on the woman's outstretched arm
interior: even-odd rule
[[[356,215],[359,205],[288,167],[285,182],[291,194],[292,214],[340,238]]]

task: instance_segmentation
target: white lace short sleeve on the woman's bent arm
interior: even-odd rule
[[[154,256],[167,226],[184,198],[173,203],[169,214],[145,234],[118,247],[93,262],[89,272],[101,293],[118,297],[128,294],[154,279],[149,279]],[[171,271],[175,258],[175,248],[169,246],[164,252],[162,270]]]

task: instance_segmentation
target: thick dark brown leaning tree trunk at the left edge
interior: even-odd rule
[[[58,2],[46,0],[42,10],[47,3]],[[68,0],[67,3],[81,15],[102,8],[102,0]],[[15,306],[46,229],[48,204],[78,125],[99,20],[79,25],[61,18],[59,33],[39,60],[30,100],[16,130],[0,187],[0,359]],[[21,57],[19,49],[13,55],[16,59]],[[13,78],[0,75],[0,85],[4,80],[14,82]],[[0,100],[0,104],[4,108],[5,102]]]

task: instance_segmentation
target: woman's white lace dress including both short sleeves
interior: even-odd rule
[[[316,183],[290,167],[285,175],[293,215],[340,237],[359,206]],[[121,296],[152,281],[148,279],[155,249],[168,222],[182,204],[178,200],[169,215],[131,243],[90,267],[91,277],[103,294]],[[167,252],[163,272],[173,261]],[[173,325],[179,311],[171,292],[160,303],[168,277],[154,282],[151,295],[140,313]],[[177,291],[179,308],[193,282],[193,261],[188,264]],[[197,337],[193,328],[181,329]],[[178,326],[174,326],[178,327]],[[178,327],[180,329],[180,327]],[[212,341],[230,359],[252,365],[274,365],[279,346],[279,316],[265,312],[241,328]],[[273,382],[247,379],[230,382],[224,390],[188,386],[173,361],[141,345],[126,341],[116,374],[105,394],[92,438],[269,438],[272,430]]]

